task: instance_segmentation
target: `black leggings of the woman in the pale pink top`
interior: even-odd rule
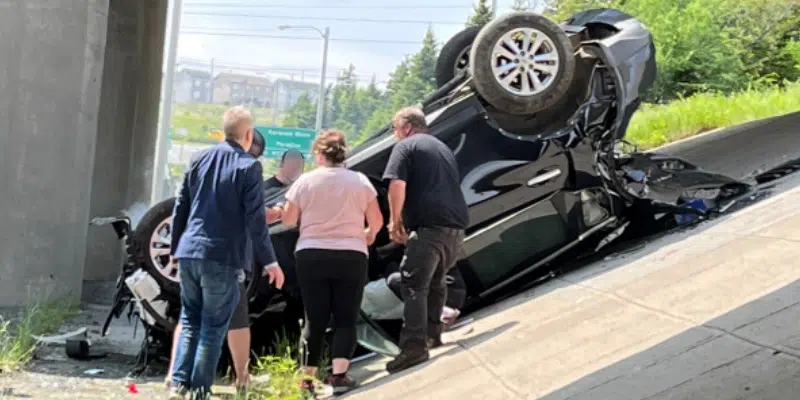
[[[318,367],[325,330],[333,315],[332,358],[353,356],[356,321],[367,280],[367,255],[358,251],[303,249],[295,255],[306,310],[303,338],[307,366]]]

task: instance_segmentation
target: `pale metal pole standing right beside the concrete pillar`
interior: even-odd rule
[[[172,18],[169,25],[169,42],[166,47],[166,58],[163,79],[161,80],[161,111],[158,120],[158,136],[156,140],[156,154],[153,164],[153,183],[150,187],[150,204],[156,204],[166,196],[164,183],[167,178],[169,158],[169,126],[172,121],[172,81],[175,76],[175,59],[178,54],[178,34],[181,24],[182,0],[171,0]]]

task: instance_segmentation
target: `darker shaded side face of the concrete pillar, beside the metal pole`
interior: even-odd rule
[[[90,218],[150,205],[167,6],[110,2]],[[91,290],[117,277],[123,255],[109,227],[90,228],[88,238],[83,279]]]

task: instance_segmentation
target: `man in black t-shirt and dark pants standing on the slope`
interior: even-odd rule
[[[425,114],[404,108],[392,121],[398,140],[383,179],[389,183],[389,234],[406,245],[400,265],[405,303],[400,355],[390,373],[425,362],[442,344],[445,276],[456,261],[469,215],[455,155],[428,135]],[[409,232],[409,233],[407,233]]]

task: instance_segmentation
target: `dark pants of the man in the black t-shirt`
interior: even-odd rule
[[[460,229],[419,228],[409,234],[400,263],[405,303],[400,347],[404,350],[424,349],[427,338],[441,335],[445,275],[458,261],[463,240]]]

